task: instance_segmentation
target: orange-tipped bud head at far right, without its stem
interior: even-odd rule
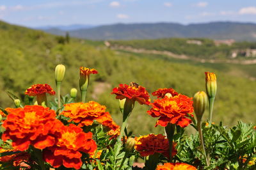
[[[205,72],[205,87],[209,98],[214,98],[217,91],[217,81],[215,73]]]

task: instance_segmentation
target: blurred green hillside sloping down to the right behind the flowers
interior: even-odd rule
[[[106,105],[114,119],[120,123],[118,102],[111,89],[120,83],[134,81],[145,86],[149,93],[157,88],[174,88],[192,97],[204,90],[204,72],[215,72],[218,77],[218,95],[214,107],[214,121],[234,125],[241,119],[255,122],[255,65],[227,65],[198,63],[191,60],[168,58],[164,55],[136,54],[111,50],[103,42],[92,42],[53,36],[42,31],[12,26],[0,22],[0,106],[14,107],[5,91],[10,89],[19,97],[31,84],[48,83],[53,88],[54,68],[66,66],[62,94],[79,84],[79,66],[95,68],[87,100]],[[104,87],[104,88],[102,88]],[[100,89],[100,93],[99,93]],[[153,98],[152,98],[153,99]],[[77,100],[79,101],[79,100]],[[147,115],[149,107],[136,104],[129,127],[135,134],[163,132],[154,128],[155,122]],[[141,125],[144,125],[141,127]]]

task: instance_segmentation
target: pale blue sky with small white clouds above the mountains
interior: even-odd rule
[[[0,20],[31,27],[117,22],[256,22],[256,0],[2,0]]]

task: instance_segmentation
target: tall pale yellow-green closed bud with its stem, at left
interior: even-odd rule
[[[60,109],[60,86],[65,76],[65,66],[57,65],[55,68],[55,81],[57,86],[58,108]]]

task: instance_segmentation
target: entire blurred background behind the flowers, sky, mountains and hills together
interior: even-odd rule
[[[255,123],[255,17],[256,2],[248,0],[1,1],[0,107],[14,107],[7,90],[24,98],[32,84],[56,88],[60,63],[66,66],[61,93],[79,89],[79,66],[86,66],[99,71],[87,100],[106,105],[120,124],[110,95],[118,84],[134,81],[149,93],[174,88],[193,97],[205,90],[204,72],[214,72],[213,120]],[[149,108],[136,104],[134,134],[162,133]]]

